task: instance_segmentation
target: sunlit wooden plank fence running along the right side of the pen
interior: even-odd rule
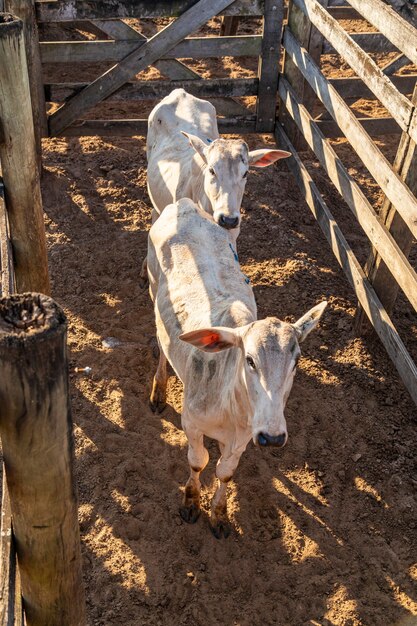
[[[406,80],[403,77],[391,80],[389,71],[384,72],[384,68],[380,68],[366,51],[369,45],[364,46],[364,50],[358,38],[355,40],[334,19],[327,4],[325,0],[290,2],[288,25],[283,33],[284,69],[278,87],[280,123],[276,126],[275,134],[277,142],[292,152],[293,158],[288,160],[289,167],[355,290],[361,310],[358,327],[363,325],[364,312],[417,403],[417,367],[389,317],[398,288],[417,310],[417,275],[408,261],[413,236],[417,236],[416,75],[404,77]],[[394,68],[406,62],[417,65],[415,28],[380,0],[349,0],[349,4],[350,9],[355,9],[377,27],[390,42],[386,50],[395,47],[399,51]],[[377,41],[374,35],[372,37],[372,41]],[[362,39],[362,43],[364,41],[366,39]],[[335,50],[349,64],[356,74],[355,78],[329,80],[324,76],[320,69],[320,57],[330,49]],[[402,93],[412,90],[411,98]],[[361,98],[369,97],[370,94],[392,116],[378,120],[378,125],[375,125],[375,120],[365,122],[358,119],[345,100],[348,95]],[[330,123],[314,119],[317,100],[331,117]],[[297,132],[290,122],[296,125]],[[401,133],[394,165],[384,157],[370,136],[392,132],[392,124]],[[335,135],[346,137],[384,192],[386,200],[380,215],[376,214],[336,154],[329,140],[329,137]],[[296,147],[300,140],[313,150],[369,238],[373,252],[365,270],[298,154]]]

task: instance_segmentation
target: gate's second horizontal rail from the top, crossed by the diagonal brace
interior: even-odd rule
[[[156,36],[156,35],[155,35]],[[153,38],[152,38],[153,39]],[[149,40],[150,41],[150,40]],[[117,62],[142,48],[143,43],[131,41],[48,41],[41,42],[42,63],[102,63]],[[167,50],[162,59],[205,59],[224,56],[258,56],[262,38],[259,35],[241,37],[190,37]]]

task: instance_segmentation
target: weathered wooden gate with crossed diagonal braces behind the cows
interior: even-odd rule
[[[13,5],[14,0],[6,0]],[[11,9],[13,7],[10,7]],[[42,63],[114,63],[91,83],[47,83],[48,101],[62,105],[49,116],[49,135],[144,134],[146,119],[85,120],[103,100],[160,99],[175,87],[215,98],[221,132],[272,132],[283,19],[283,0],[176,0],[168,2],[36,2],[38,23],[91,21],[111,39],[40,43]],[[190,37],[215,15],[262,16],[262,35]],[[173,19],[150,39],[121,18]],[[258,75],[249,79],[202,79],[178,59],[222,56],[259,58]],[[169,80],[138,81],[155,65]],[[233,98],[256,96],[255,115]]]

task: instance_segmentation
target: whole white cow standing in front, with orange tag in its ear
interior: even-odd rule
[[[210,523],[216,537],[226,537],[227,482],[251,439],[260,446],[286,443],[284,408],[299,343],[327,303],[295,324],[276,317],[258,321],[252,288],[227,231],[188,198],[167,206],[153,224],[148,274],[160,346],[150,397],[153,410],[165,406],[167,359],[184,384],[181,420],[191,473],[180,513],[190,523],[199,515],[207,435],[219,442],[221,452]]]

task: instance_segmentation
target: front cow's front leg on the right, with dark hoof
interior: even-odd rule
[[[219,446],[221,457],[216,467],[218,484],[211,501],[210,514],[210,527],[216,539],[227,538],[230,535],[232,527],[227,516],[227,483],[232,479],[243,452],[243,450],[230,452],[221,443]]]

